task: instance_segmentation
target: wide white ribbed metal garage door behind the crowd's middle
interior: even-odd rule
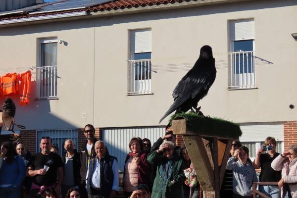
[[[124,163],[129,153],[129,142],[133,137],[148,138],[151,145],[165,133],[165,127],[133,127],[102,129],[102,140],[106,143],[109,154],[118,159],[119,169],[124,169]]]

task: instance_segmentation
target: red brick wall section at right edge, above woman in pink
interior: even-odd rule
[[[297,144],[297,121],[284,122],[284,143],[285,150],[294,144]]]

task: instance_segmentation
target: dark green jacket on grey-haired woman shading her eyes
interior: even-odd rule
[[[183,160],[174,152],[170,159],[156,151],[148,154],[148,163],[156,166],[156,177],[153,182],[151,198],[182,198],[185,168]],[[169,161],[169,164],[167,164]],[[164,169],[168,167],[168,176],[164,181]]]

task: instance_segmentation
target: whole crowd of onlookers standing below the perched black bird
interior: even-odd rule
[[[95,138],[95,128],[84,128],[86,142],[75,149],[72,140],[64,143],[58,155],[50,137],[42,137],[41,152],[32,155],[24,144],[1,144],[0,198],[115,198],[119,187],[117,158],[103,141]],[[132,138],[123,174],[125,198],[201,198],[196,171],[186,148],[176,144],[168,128],[153,145],[150,140]],[[282,154],[276,140],[267,137],[258,148],[254,161],[249,150],[233,141],[222,184],[221,198],[251,198],[252,183],[258,182],[261,168],[261,193],[270,198],[297,198],[297,146]],[[266,151],[267,150],[267,151]],[[268,183],[271,184],[271,183]]]

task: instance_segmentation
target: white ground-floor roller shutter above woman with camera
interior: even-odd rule
[[[276,141],[284,141],[283,123],[241,124],[240,128],[243,132],[243,135],[240,137],[241,142],[262,142],[268,136],[274,137]]]

